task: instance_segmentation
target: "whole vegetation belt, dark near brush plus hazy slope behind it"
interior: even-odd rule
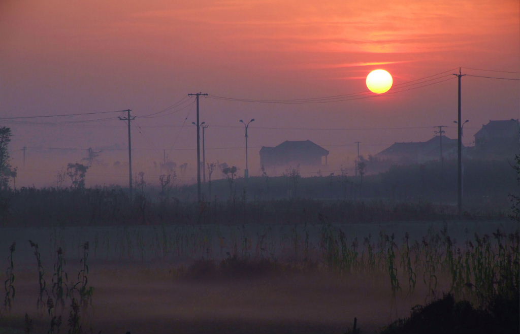
[[[471,162],[464,168],[464,217],[506,218],[518,195],[516,165]],[[443,171],[441,173],[441,170]],[[160,187],[136,180],[128,189],[108,186],[0,190],[2,226],[210,224],[210,223],[356,223],[455,219],[457,173],[454,162],[392,167],[377,175],[303,178],[297,169],[282,177],[236,178],[197,186]],[[85,175],[83,175],[85,177]],[[88,177],[88,174],[86,175]],[[82,179],[80,177],[80,179]],[[82,181],[82,180],[80,180]],[[514,213],[514,212],[513,212]]]

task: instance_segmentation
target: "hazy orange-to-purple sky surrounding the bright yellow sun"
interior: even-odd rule
[[[519,8],[517,0],[3,0],[0,114],[130,108],[139,116],[197,91],[240,98],[339,95],[365,90],[365,77],[376,68],[391,72],[394,85],[459,66],[520,71]],[[518,77],[472,70],[465,73]],[[519,87],[515,81],[463,78],[463,117],[471,122],[465,143],[471,144],[473,133],[489,119],[519,116]],[[450,125],[456,118],[456,103],[453,77],[452,81],[378,99],[317,105],[203,99],[201,119],[214,125],[207,132],[207,146],[243,145],[243,129],[218,125],[240,126],[238,119],[254,117],[251,146],[310,139],[330,144],[326,146],[330,159],[339,165],[355,154],[353,141],[366,144],[365,154],[374,154],[384,149],[383,144],[427,140],[433,129],[303,131],[254,127]],[[194,112],[188,111],[159,118],[138,117],[136,124],[141,127],[139,133],[135,131],[134,147],[193,148],[194,129],[188,125]],[[181,127],[186,117],[189,119]],[[11,124],[15,133],[12,148],[126,145],[121,121],[87,125]],[[166,127],[170,125],[174,127]],[[447,135],[454,137],[454,130],[448,128]],[[258,148],[250,152],[252,166],[258,165]],[[20,154],[16,152],[12,156],[19,165]],[[157,155],[142,158],[162,158],[162,152]],[[208,155],[210,160],[243,168],[240,150],[215,150]],[[193,163],[194,152],[171,151],[171,157],[179,163]],[[64,165],[67,159],[75,158],[60,155],[58,160]],[[47,170],[51,169],[56,167]]]

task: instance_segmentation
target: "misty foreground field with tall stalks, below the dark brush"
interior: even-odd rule
[[[23,332],[26,312],[32,332],[56,332],[59,315],[70,329],[73,299],[84,332],[344,333],[354,317],[379,332],[445,292],[478,306],[518,291],[511,221],[2,231],[6,255],[16,241],[10,332]]]

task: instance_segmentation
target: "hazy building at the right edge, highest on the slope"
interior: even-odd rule
[[[475,133],[475,157],[489,158],[520,153],[518,119],[491,121]]]

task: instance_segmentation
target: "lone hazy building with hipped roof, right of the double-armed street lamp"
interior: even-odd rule
[[[327,164],[329,151],[310,140],[289,141],[286,140],[274,148],[262,146],[260,150],[260,162],[265,168],[276,166],[320,166],[322,158]]]

